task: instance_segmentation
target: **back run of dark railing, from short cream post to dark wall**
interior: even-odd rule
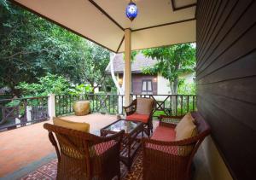
[[[153,98],[156,102],[154,116],[160,114],[183,115],[195,111],[194,95],[132,95],[131,100],[141,97]],[[124,96],[115,94],[85,94],[81,96],[55,96],[56,116],[73,113],[73,102],[79,100],[90,101],[92,113],[124,114]]]

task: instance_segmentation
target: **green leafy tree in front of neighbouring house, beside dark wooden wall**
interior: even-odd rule
[[[145,56],[154,58],[154,67],[143,69],[143,73],[160,73],[170,83],[172,95],[177,94],[178,85],[182,82],[180,75],[195,72],[195,45],[176,44],[167,47],[144,49]]]

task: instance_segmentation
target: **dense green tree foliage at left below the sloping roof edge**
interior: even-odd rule
[[[109,52],[60,26],[0,0],[0,85],[20,96],[20,82],[47,73],[71,84],[106,84]]]

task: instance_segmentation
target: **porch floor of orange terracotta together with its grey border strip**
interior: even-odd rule
[[[90,123],[90,132],[96,134],[102,127],[116,120],[115,115],[90,114],[87,116],[65,116],[79,122]],[[52,121],[46,121],[52,124]],[[19,179],[56,158],[55,149],[50,144],[48,132],[44,130],[45,122],[28,125],[11,131],[0,133],[0,179]],[[154,120],[154,127],[158,122]],[[199,149],[195,155],[195,179],[211,179],[205,165],[204,155]],[[198,169],[198,168],[196,168]]]

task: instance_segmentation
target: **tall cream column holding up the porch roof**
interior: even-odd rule
[[[130,104],[131,94],[131,29],[125,29],[125,106]]]

